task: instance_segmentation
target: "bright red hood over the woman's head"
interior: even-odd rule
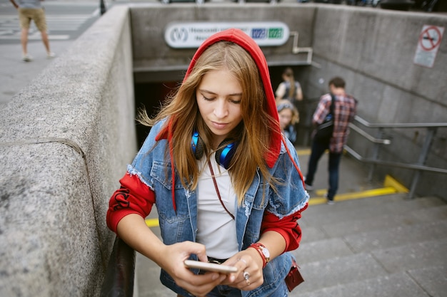
[[[201,46],[197,49],[196,53],[194,54],[194,57],[189,64],[188,71],[186,71],[185,78],[188,77],[188,75],[191,73],[192,69],[194,68],[194,65],[196,64],[197,59],[201,56],[202,53],[211,46],[212,44],[219,42],[219,41],[231,41],[233,43],[238,44],[243,49],[245,49],[248,53],[250,53],[251,57],[255,61],[256,65],[258,66],[259,73],[261,73],[261,80],[264,87],[264,92],[266,93],[267,98],[267,108],[268,113],[275,118],[278,122],[278,111],[276,110],[276,103],[275,103],[275,96],[273,95],[273,89],[271,88],[271,81],[270,81],[270,74],[268,73],[268,66],[265,56],[263,55],[261,48],[259,48],[258,44],[253,41],[250,36],[248,36],[246,33],[243,33],[240,29],[237,28],[230,28],[225,31],[221,31],[219,33],[216,33],[204,41],[204,43],[201,44]],[[170,122],[164,130],[161,130],[159,135],[157,135],[157,140],[160,138],[168,138],[169,134],[171,132],[172,123]],[[279,127],[279,124],[272,132],[271,135],[271,143],[270,143],[270,152],[268,155],[266,155],[266,162],[268,167],[273,167],[276,160],[278,159],[279,151],[281,150],[281,130]]]

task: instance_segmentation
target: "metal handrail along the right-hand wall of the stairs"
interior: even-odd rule
[[[354,123],[360,123],[361,125],[365,127],[370,128],[377,128],[378,129],[378,137],[373,137],[372,135],[369,135],[368,132],[361,129],[361,127],[358,127]],[[359,135],[365,137],[367,140],[373,142],[373,156],[371,158],[362,157],[358,152],[353,150],[352,147],[349,147],[348,145],[345,145],[345,150],[356,158],[356,160],[361,162],[367,162],[370,163],[371,169],[369,171],[368,179],[371,181],[373,178],[373,172],[376,168],[376,165],[386,165],[391,167],[401,167],[406,168],[410,170],[416,170],[416,173],[413,176],[413,182],[411,183],[411,189],[409,191],[408,197],[413,198],[416,186],[418,184],[419,177],[421,176],[422,172],[433,172],[433,173],[441,173],[441,174],[447,174],[447,170],[443,168],[437,168],[437,167],[430,167],[424,165],[426,162],[426,158],[428,155],[428,152],[430,151],[431,142],[433,140],[433,137],[436,135],[436,131],[439,127],[447,127],[447,123],[388,123],[388,124],[375,124],[375,123],[369,123],[368,121],[364,120],[360,116],[356,115],[354,119],[354,123],[350,123],[349,127],[351,127],[352,130],[358,132]],[[423,146],[421,149],[421,153],[419,154],[418,162],[411,164],[411,163],[403,163],[403,162],[392,162],[392,161],[385,161],[385,160],[378,160],[378,152],[380,145],[390,145],[391,140],[383,139],[383,129],[385,128],[425,128],[427,129],[427,135],[426,139],[423,142]]]

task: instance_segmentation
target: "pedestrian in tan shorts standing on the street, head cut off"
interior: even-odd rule
[[[50,50],[50,43],[48,40],[48,34],[46,33],[46,16],[44,7],[41,5],[41,1],[44,0],[9,0],[12,5],[19,11],[19,22],[21,28],[21,48],[22,48],[22,60],[25,62],[33,61],[33,58],[28,54],[28,33],[31,20],[36,24],[37,29],[41,32],[42,42],[46,49],[46,57],[54,58],[56,56]]]

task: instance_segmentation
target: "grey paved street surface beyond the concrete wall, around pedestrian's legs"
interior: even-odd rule
[[[83,16],[89,15],[95,9],[99,9],[99,1],[94,4],[93,0],[83,1],[45,1],[47,24],[49,24],[49,43],[51,51],[56,53],[55,58],[64,56],[64,52],[73,43],[76,38],[71,34],[83,33],[86,26],[81,23],[76,23],[73,19],[57,20],[61,14],[65,16],[79,16],[76,11],[68,11],[67,7],[77,6],[84,8],[88,13],[83,11]],[[97,8],[96,8],[97,6]],[[91,8],[91,9],[90,9]],[[59,11],[54,11],[59,9]],[[52,12],[53,11],[53,12]],[[78,11],[79,12],[79,11]],[[79,12],[80,13],[80,12]],[[49,21],[49,17],[56,19]],[[85,22],[91,18],[86,18]],[[76,25],[79,26],[76,27]],[[58,28],[61,27],[61,28]],[[62,28],[63,27],[63,28]],[[49,64],[54,61],[54,58],[47,59],[44,43],[42,43],[39,31],[36,31],[34,22],[31,22],[28,53],[34,58],[31,62],[24,62],[21,60],[22,50],[21,41],[19,38],[19,19],[16,9],[9,2],[9,0],[0,0],[0,110],[22,89],[38,77],[39,73],[44,70]],[[55,35],[54,32],[61,32],[61,30],[69,30],[69,38],[60,38],[61,35]],[[59,34],[59,33],[58,33]]]

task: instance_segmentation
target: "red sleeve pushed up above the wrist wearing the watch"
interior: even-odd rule
[[[283,217],[282,219],[279,219],[271,212],[265,212],[261,224],[261,234],[266,231],[276,231],[286,240],[286,249],[284,251],[298,249],[301,241],[301,227],[296,221],[301,219],[301,212],[307,207],[308,204],[298,212]]]

